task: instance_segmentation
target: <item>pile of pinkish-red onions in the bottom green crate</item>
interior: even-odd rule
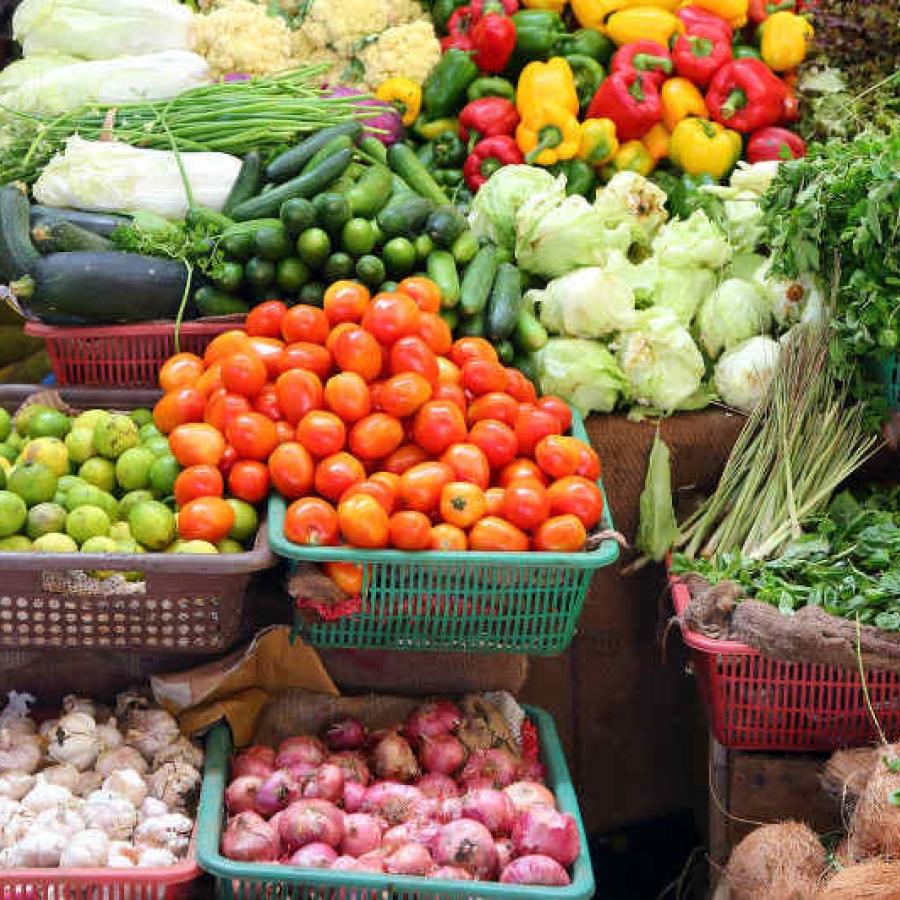
[[[357,719],[321,738],[290,737],[232,759],[222,853],[297,868],[570,883],[575,819],[556,808],[540,766],[504,748],[469,751],[461,710],[436,700],[395,728]]]

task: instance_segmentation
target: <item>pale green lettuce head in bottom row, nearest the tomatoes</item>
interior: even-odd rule
[[[613,355],[597,341],[551,338],[537,354],[545,394],[571,403],[583,416],[612,412],[628,381]]]

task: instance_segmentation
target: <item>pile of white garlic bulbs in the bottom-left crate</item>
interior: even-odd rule
[[[115,709],[63,700],[29,716],[12,692],[0,713],[0,869],[170,866],[194,822],[203,752],[165,710],[134,693]]]

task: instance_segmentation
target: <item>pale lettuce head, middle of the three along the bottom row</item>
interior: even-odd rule
[[[617,359],[638,403],[677,409],[700,387],[703,356],[688,330],[667,309],[642,310],[623,333]]]

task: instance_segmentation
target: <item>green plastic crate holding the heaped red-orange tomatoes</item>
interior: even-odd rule
[[[574,411],[572,434],[588,439]],[[604,493],[601,526],[611,529],[605,500]],[[269,545],[279,556],[364,567],[358,613],[314,625],[298,617],[298,630],[316,647],[562,653],[572,642],[594,572],[619,557],[619,545],[609,539],[586,553],[301,547],[284,535],[285,510],[284,499],[272,495]]]

